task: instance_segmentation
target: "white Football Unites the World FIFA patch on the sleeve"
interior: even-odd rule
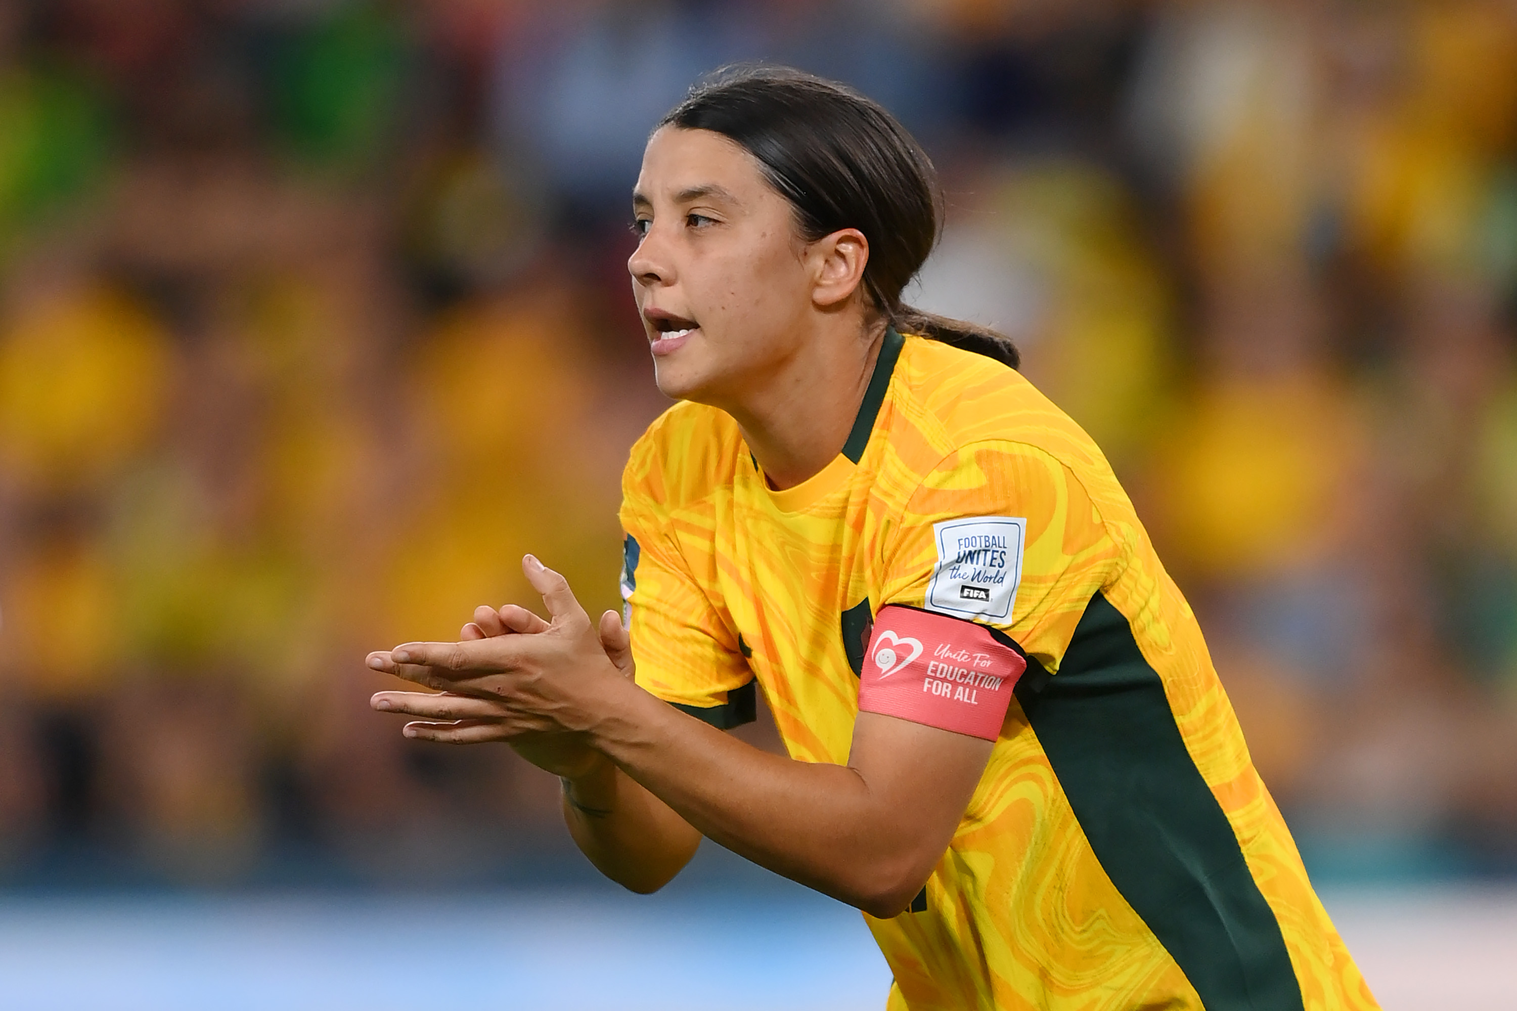
[[[933,524],[938,563],[927,583],[928,610],[1010,622],[1022,578],[1022,516],[968,516]]]

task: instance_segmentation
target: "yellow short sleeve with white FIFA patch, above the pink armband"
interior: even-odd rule
[[[1047,451],[1009,440],[945,457],[892,533],[881,607],[986,625],[1050,674],[1121,557],[1079,477]]]

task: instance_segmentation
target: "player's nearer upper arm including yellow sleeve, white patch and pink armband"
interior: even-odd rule
[[[884,556],[850,765],[886,802],[886,830],[901,833],[925,880],[985,774],[1027,657],[1056,662],[1063,624],[1073,630],[1117,551],[1068,468],[997,442],[927,475]]]

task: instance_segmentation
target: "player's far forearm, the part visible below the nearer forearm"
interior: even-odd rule
[[[657,891],[695,856],[701,833],[610,761],[561,782],[575,846],[623,888]]]

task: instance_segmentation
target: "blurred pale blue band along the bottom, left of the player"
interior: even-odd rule
[[[711,852],[707,852],[711,850]],[[880,1011],[863,917],[719,847],[664,893],[0,896],[6,1011]]]

